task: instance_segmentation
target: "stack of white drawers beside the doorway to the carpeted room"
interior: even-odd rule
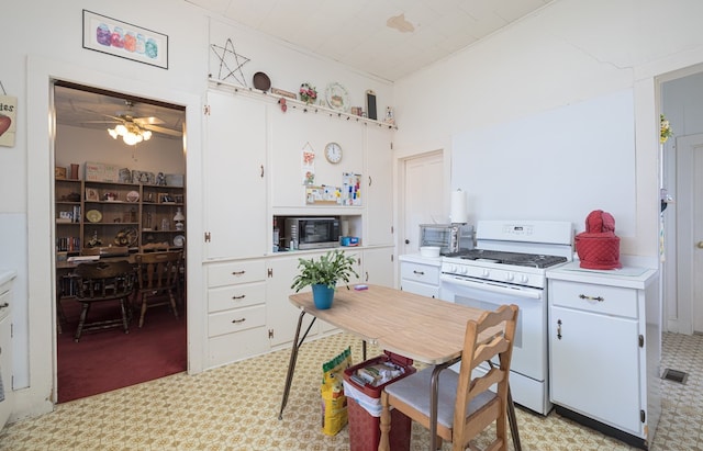
[[[268,351],[264,260],[209,263],[208,367]]]

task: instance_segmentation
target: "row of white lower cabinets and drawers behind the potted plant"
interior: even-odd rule
[[[393,248],[343,248],[354,257],[357,283],[387,284],[393,281]],[[319,259],[326,250],[297,251],[266,259],[210,262],[208,274],[208,368],[220,367],[290,346],[295,337],[300,309],[289,301],[298,274],[299,259]],[[306,286],[301,292],[308,292]],[[338,290],[346,290],[339,285]],[[313,317],[305,315],[301,334]],[[308,338],[336,330],[316,320]]]

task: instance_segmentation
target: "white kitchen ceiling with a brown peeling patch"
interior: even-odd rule
[[[186,0],[397,81],[555,0]]]

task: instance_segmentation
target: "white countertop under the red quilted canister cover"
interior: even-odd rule
[[[547,270],[547,279],[572,282],[594,283],[644,290],[656,280],[659,271],[652,268],[623,267],[613,270],[593,270],[581,268],[578,260]]]

